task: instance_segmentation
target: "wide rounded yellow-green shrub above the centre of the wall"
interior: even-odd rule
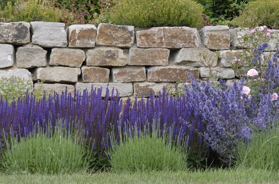
[[[203,26],[202,9],[192,0],[120,0],[112,11],[117,25]]]

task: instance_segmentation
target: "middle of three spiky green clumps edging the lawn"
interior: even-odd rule
[[[136,126],[126,126],[120,141],[112,141],[108,151],[109,163],[114,172],[185,171],[185,147],[174,145],[173,129],[160,129],[154,121],[151,129],[147,123],[144,131]],[[113,135],[112,135],[113,136]]]

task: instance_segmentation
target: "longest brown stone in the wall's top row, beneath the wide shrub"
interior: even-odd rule
[[[136,32],[137,47],[142,48],[195,48],[203,47],[196,28],[153,27]]]

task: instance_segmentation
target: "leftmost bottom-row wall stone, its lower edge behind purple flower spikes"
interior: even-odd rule
[[[34,91],[44,91],[46,95],[54,94],[54,92],[58,94],[62,94],[62,92],[65,92],[67,88],[67,93],[71,93],[72,96],[75,91],[75,87],[73,85],[69,84],[60,84],[60,83],[54,83],[54,84],[47,84],[47,83],[35,83],[34,84]]]

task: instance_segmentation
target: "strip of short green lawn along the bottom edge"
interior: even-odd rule
[[[278,184],[279,171],[218,169],[197,172],[97,173],[72,175],[5,175],[1,184]]]

